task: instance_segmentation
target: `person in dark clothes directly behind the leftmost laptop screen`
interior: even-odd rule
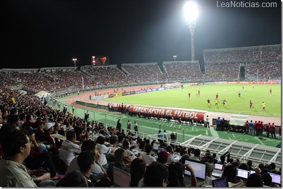
[[[130,173],[130,167],[125,163],[131,163],[133,158],[131,156],[127,156],[126,151],[123,148],[119,148],[115,151],[115,161],[110,162],[107,167],[107,175],[111,180],[111,185],[113,185],[113,167],[119,168],[123,171]]]

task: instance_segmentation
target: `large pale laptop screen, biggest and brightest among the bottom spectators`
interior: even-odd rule
[[[195,175],[198,179],[204,180],[205,179],[205,166],[206,164],[202,161],[197,161],[193,159],[186,159],[185,164],[190,165],[195,172]],[[191,173],[188,171],[184,171],[185,175],[191,176]]]

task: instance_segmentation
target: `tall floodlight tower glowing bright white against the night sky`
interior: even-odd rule
[[[188,2],[185,4],[185,17],[187,21],[188,29],[191,33],[191,49],[192,49],[192,61],[195,61],[195,26],[196,26],[196,18],[198,13],[198,7],[193,2]]]

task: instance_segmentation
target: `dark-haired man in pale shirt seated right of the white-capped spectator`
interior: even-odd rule
[[[59,158],[62,159],[67,165],[74,159],[76,154],[81,153],[81,147],[74,144],[76,141],[76,132],[74,130],[69,130],[67,132],[66,140],[62,142]]]

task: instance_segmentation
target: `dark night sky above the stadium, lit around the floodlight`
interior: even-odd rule
[[[2,0],[0,68],[191,60],[184,0]],[[218,8],[230,1],[199,0],[195,60],[203,49],[281,44],[277,8]],[[217,5],[218,2],[218,5]],[[241,2],[241,1],[236,1]]]

